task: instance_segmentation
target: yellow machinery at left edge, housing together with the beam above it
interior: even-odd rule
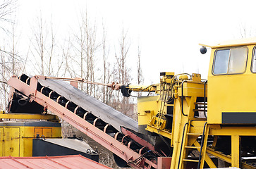
[[[42,119],[56,120],[55,115],[5,114],[1,111],[0,117],[27,118],[26,121],[13,120],[0,123],[0,156],[32,156],[32,139],[61,138],[61,123],[42,121]]]

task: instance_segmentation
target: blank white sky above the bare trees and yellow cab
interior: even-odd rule
[[[159,82],[159,73],[201,73],[207,78],[209,51],[200,54],[199,43],[240,38],[239,27],[255,31],[256,1],[150,1],[150,0],[20,0],[18,23],[23,36],[31,31],[35,18],[54,19],[58,36],[70,33],[85,11],[97,25],[102,20],[109,41],[118,40],[121,29],[128,30],[130,54],[128,66],[137,64],[141,49],[145,83]],[[109,46],[114,50],[115,44]]]

